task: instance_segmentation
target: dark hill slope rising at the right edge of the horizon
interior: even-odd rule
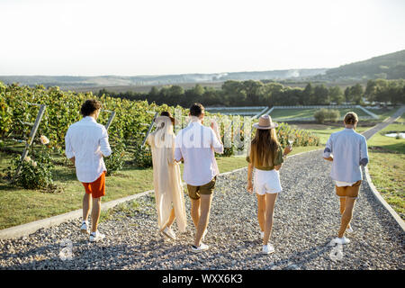
[[[385,54],[337,68],[331,68],[317,78],[340,79],[400,79],[405,78],[405,50]]]

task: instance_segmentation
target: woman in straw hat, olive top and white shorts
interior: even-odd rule
[[[247,155],[247,192],[257,194],[257,219],[263,237],[264,254],[275,252],[275,247],[269,244],[269,238],[273,227],[273,214],[277,193],[283,189],[280,184],[278,170],[282,166],[283,158],[293,148],[286,147],[284,151],[277,140],[275,128],[269,115],[263,115],[253,127],[257,129],[255,138],[252,139]],[[255,186],[252,183],[253,170],[255,170]]]

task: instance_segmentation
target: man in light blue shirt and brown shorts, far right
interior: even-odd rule
[[[332,161],[331,177],[336,183],[336,193],[340,197],[342,215],[338,244],[347,244],[345,231],[352,232],[350,220],[356,198],[363,180],[361,166],[368,163],[367,142],[365,137],[355,131],[358,117],[355,112],[347,112],[344,119],[345,129],[332,133],[323,151],[323,158]]]

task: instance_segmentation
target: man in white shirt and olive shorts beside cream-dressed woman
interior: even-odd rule
[[[193,252],[208,249],[202,243],[211,211],[212,193],[220,174],[214,152],[223,153],[220,132],[215,122],[211,128],[202,125],[204,107],[193,103],[191,122],[175,137],[175,161],[184,160],[184,182],[191,199],[191,216],[196,228]]]

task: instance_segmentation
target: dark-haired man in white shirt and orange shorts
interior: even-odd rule
[[[88,214],[93,200],[92,229],[90,241],[105,237],[97,229],[101,211],[101,197],[105,195],[105,172],[103,157],[111,155],[105,127],[97,123],[102,104],[95,99],[85,101],[81,107],[83,119],[69,126],[65,136],[66,156],[76,166],[76,176],[85,186],[83,197],[83,222],[81,231],[88,234]]]

